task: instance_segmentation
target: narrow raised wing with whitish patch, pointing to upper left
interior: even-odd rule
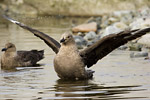
[[[26,25],[24,25],[24,24],[22,24],[22,23],[20,23],[20,22],[18,22],[18,21],[15,21],[15,20],[9,18],[8,16],[3,15],[3,17],[4,17],[5,19],[11,21],[12,23],[15,23],[15,24],[17,24],[18,26],[20,26],[20,27],[22,27],[22,28],[24,28],[24,29],[26,29],[26,30],[32,32],[35,36],[37,36],[37,37],[39,37],[40,39],[42,39],[49,47],[51,47],[52,50],[53,50],[56,54],[58,53],[59,48],[60,48],[60,44],[59,44],[59,42],[57,42],[57,41],[56,41],[55,39],[53,39],[52,37],[46,35],[46,34],[43,33],[43,32],[40,32],[40,31],[38,31],[38,30],[36,30],[36,29],[33,29],[33,28],[29,27],[29,26],[26,26]]]

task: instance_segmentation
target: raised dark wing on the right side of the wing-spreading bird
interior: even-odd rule
[[[150,28],[122,31],[118,34],[105,36],[95,44],[81,51],[80,56],[83,58],[85,65],[87,65],[89,68],[114,49],[127,43],[130,40],[136,39],[146,34],[147,32],[150,32]]]

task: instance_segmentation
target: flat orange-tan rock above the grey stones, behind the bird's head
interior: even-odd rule
[[[74,28],[72,28],[73,32],[90,32],[90,31],[97,31],[97,23],[91,22],[87,24],[78,25]]]

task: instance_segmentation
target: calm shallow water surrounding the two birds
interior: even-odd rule
[[[59,40],[72,23],[85,18],[16,18]],[[130,51],[115,50],[91,69],[94,78],[87,81],[62,81],[53,68],[55,53],[39,38],[15,24],[0,24],[0,49],[7,42],[18,50],[44,49],[40,67],[0,71],[0,100],[149,100],[150,61],[131,59]],[[1,55],[2,53],[0,53]]]

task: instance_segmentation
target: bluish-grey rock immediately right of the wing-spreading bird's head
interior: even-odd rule
[[[87,41],[82,36],[74,36],[78,49],[83,49],[87,45]]]

